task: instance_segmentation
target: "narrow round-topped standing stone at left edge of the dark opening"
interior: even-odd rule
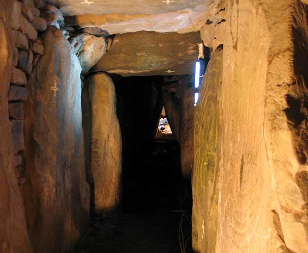
[[[87,77],[83,91],[83,127],[87,180],[97,214],[116,210],[120,200],[122,143],[115,108],[112,79],[104,73]]]

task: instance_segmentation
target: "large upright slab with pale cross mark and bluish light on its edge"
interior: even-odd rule
[[[23,197],[33,251],[68,252],[89,224],[81,67],[60,30],[43,43],[28,83]]]

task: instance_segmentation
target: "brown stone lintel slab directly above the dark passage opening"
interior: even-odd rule
[[[93,71],[122,76],[194,74],[198,43],[198,32],[117,34]]]

